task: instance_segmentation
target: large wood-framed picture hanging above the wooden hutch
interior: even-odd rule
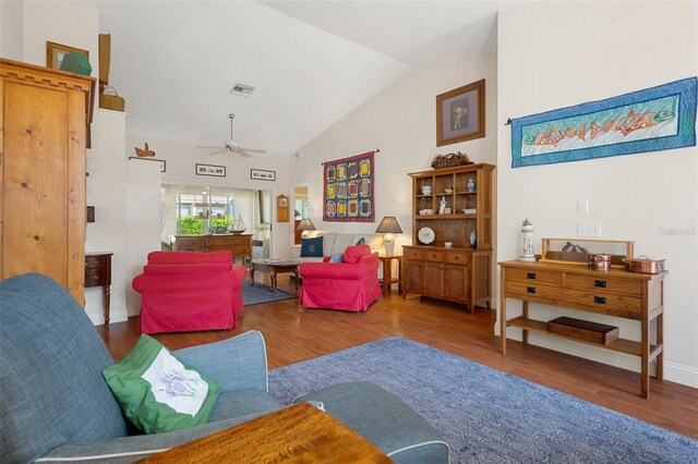
[[[484,137],[484,80],[436,96],[436,146]]]

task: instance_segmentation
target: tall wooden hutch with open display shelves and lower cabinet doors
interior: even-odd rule
[[[404,297],[465,303],[470,313],[478,303],[490,305],[493,169],[481,163],[409,174],[413,245],[402,247]]]

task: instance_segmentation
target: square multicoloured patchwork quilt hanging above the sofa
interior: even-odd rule
[[[324,174],[324,221],[373,222],[373,151],[327,161]]]

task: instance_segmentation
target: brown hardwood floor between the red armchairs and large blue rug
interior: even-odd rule
[[[268,284],[268,276],[260,279]],[[282,274],[279,288],[293,291]],[[500,370],[547,386],[660,427],[698,439],[698,389],[670,381],[650,380],[650,398],[639,396],[639,374],[569,356],[538,346],[507,341],[502,356],[493,335],[495,313],[478,308],[468,314],[461,306],[429,298],[402,300],[395,286],[392,295],[374,303],[366,313],[305,309],[298,300],[248,306],[239,326],[228,331],[166,333],[155,335],[170,350],[260,330],[266,340],[269,369],[309,359],[385,337],[399,335],[466,357]],[[122,358],[137,340],[136,318],[99,326],[112,356]]]

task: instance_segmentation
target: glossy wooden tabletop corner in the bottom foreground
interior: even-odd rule
[[[366,439],[309,403],[296,404],[141,463],[392,463]]]

